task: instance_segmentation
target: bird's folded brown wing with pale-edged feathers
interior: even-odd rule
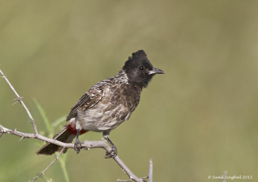
[[[89,89],[88,92],[84,93],[77,104],[71,109],[66,121],[69,121],[71,118],[75,117],[78,112],[85,111],[97,104],[105,95],[105,90],[107,88],[108,85],[105,82],[100,82]]]

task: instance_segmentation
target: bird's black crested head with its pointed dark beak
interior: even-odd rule
[[[143,50],[134,52],[123,66],[129,83],[146,88],[155,74],[164,74],[164,71],[154,68]]]

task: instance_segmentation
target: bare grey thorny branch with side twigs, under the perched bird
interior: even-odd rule
[[[24,104],[24,102],[22,101],[22,97],[19,96],[19,94],[16,92],[16,90],[14,89],[13,85],[11,85],[11,83],[9,82],[9,80],[6,78],[6,75],[2,72],[2,70],[0,69],[0,73],[2,74],[2,78],[4,78],[6,80],[6,82],[8,83],[8,85],[10,86],[10,88],[13,90],[15,96],[17,97],[17,99],[14,99],[14,100],[17,100],[18,102],[20,102],[22,104],[22,106],[25,108],[25,111],[27,112],[27,114],[29,115],[29,118],[30,118],[30,121],[33,125],[33,128],[34,128],[34,131],[35,131],[35,134],[32,134],[32,133],[22,133],[20,131],[17,131],[16,129],[14,130],[11,130],[11,129],[8,129],[8,128],[5,128],[3,127],[1,124],[0,124],[0,137],[2,136],[2,134],[4,133],[7,133],[7,134],[11,134],[11,135],[16,135],[16,136],[19,136],[19,137],[22,137],[22,138],[33,138],[33,139],[39,139],[39,140],[42,140],[44,142],[49,142],[49,143],[53,143],[53,144],[56,144],[58,146],[61,146],[61,147],[64,147],[64,148],[74,148],[74,145],[71,144],[71,143],[63,143],[63,142],[60,142],[60,141],[57,141],[57,140],[54,140],[54,139],[51,139],[51,138],[47,138],[43,135],[40,135],[37,131],[37,127],[36,127],[36,124],[34,122],[34,119],[33,117],[31,116],[28,108],[26,107],[26,105]],[[90,149],[93,149],[93,148],[103,148],[104,150],[106,151],[110,151],[111,148],[108,146],[108,144],[102,140],[102,141],[84,141],[84,143],[81,145],[82,149],[84,150],[90,150]],[[61,153],[58,155],[58,157],[61,155]],[[57,159],[57,158],[56,158]],[[47,169],[49,169],[49,167],[56,161],[56,159],[54,161],[51,162],[51,164],[41,173],[44,174],[45,171]],[[136,181],[136,182],[144,182],[145,178],[139,178],[137,176],[135,176],[134,173],[132,173],[132,171],[123,163],[123,161],[120,159],[119,156],[115,156],[113,158],[116,163],[122,168],[122,170],[129,176],[129,178],[131,179],[131,181]],[[150,166],[150,169],[151,169],[151,166]],[[150,171],[150,174],[152,174],[152,171]],[[40,175],[40,176],[41,176]],[[152,175],[151,175],[152,176]],[[38,176],[39,177],[39,176]],[[38,177],[35,177],[36,179]],[[33,178],[33,180],[36,180],[35,178]],[[150,179],[152,181],[152,179]]]

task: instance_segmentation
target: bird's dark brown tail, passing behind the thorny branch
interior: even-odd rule
[[[53,139],[56,139],[56,140],[58,140],[60,142],[64,142],[64,143],[71,143],[72,140],[75,138],[75,136],[76,135],[72,135],[71,133],[69,133],[67,131],[67,128],[65,127],[65,129],[60,131],[57,135],[55,135]],[[52,155],[57,151],[61,151],[61,149],[62,149],[61,146],[57,146],[53,143],[47,143],[40,150],[38,150],[36,152],[36,154]],[[67,151],[67,148],[63,151],[63,153],[65,154],[66,151]]]

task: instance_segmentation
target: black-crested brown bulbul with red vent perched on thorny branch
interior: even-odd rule
[[[53,139],[71,143],[75,138],[74,150],[78,154],[82,144],[79,135],[88,131],[102,132],[111,146],[105,158],[114,158],[117,148],[109,138],[110,131],[130,118],[143,88],[147,88],[155,74],[165,73],[152,66],[143,50],[132,53],[118,74],[98,82],[84,93],[68,114],[69,123]],[[47,143],[37,154],[52,155],[61,150],[61,146]],[[66,151],[67,148],[63,153]]]

